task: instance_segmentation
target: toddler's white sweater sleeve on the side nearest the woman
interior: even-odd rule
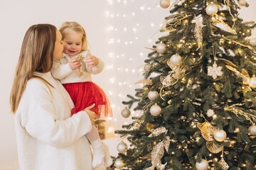
[[[55,79],[64,79],[68,76],[71,72],[73,72],[72,69],[69,67],[69,63],[61,63],[60,60],[57,60],[53,62],[53,67],[50,70],[51,74]]]

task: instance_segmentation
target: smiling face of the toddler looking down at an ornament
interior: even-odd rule
[[[69,29],[63,41],[65,42],[63,52],[67,55],[73,57],[82,51],[82,33]]]

